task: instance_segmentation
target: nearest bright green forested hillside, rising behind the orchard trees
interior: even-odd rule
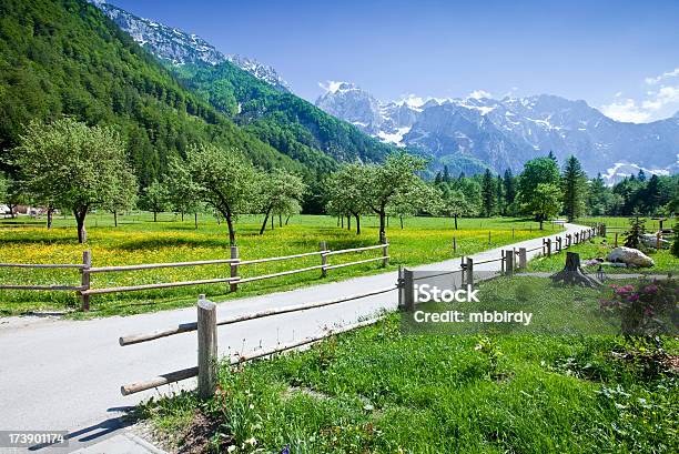
[[[62,114],[115,125],[141,185],[163,174],[170,157],[201,141],[242,149],[257,165],[315,173],[182,87],[84,0],[2,0],[0,161],[8,161],[30,120]]]

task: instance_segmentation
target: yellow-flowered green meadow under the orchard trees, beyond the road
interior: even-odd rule
[[[113,226],[111,214],[92,214],[88,218],[89,242],[94,266],[138,263],[161,263],[226,259],[230,256],[225,225],[209,216],[201,216],[199,229],[194,230],[193,219],[184,222],[178,215],[164,213],[159,222],[152,222],[150,213],[119,216],[119,226]],[[508,244],[514,241],[540,236],[550,232],[537,230],[537,223],[517,219],[463,219],[459,230],[453,229],[453,220],[413,218],[404,220],[402,230],[398,220],[392,219],[387,229],[389,239],[389,270],[398,265],[430,263],[470,254],[487,248]],[[341,229],[330,216],[300,215],[290,224],[267,230],[259,235],[261,216],[242,216],[237,222],[237,242],[242,259],[261,259],[290,255],[318,250],[318,243],[326,241],[333,250],[377,244],[377,220],[365,218],[363,233]],[[268,228],[271,229],[271,228]],[[553,229],[556,229],[553,226]],[[491,242],[488,244],[488,232]],[[452,240],[457,238],[457,253],[453,254]],[[74,222],[71,216],[57,216],[51,230],[44,228],[44,220],[30,218],[0,220],[0,262],[9,263],[80,263],[83,245],[75,240]],[[379,250],[359,254],[333,256],[332,263],[377,256]],[[317,256],[293,261],[273,262],[243,266],[241,274],[252,276],[275,273],[293,268],[320,264]],[[328,272],[321,280],[320,273],[308,272],[276,278],[256,283],[243,284],[239,292],[229,294],[226,284],[188,286],[180,289],[93,295],[91,312],[69,312],[72,317],[128,315],[181,307],[195,303],[200,293],[215,301],[230,297],[262,294],[288,290],[302,285],[336,281],[356,275],[379,273],[379,262],[347,266]],[[135,285],[156,282],[191,281],[227,275],[227,265],[173,268],[124,273],[93,274],[92,287]],[[8,284],[79,285],[80,276],[74,270],[26,270],[0,269],[0,282]],[[28,292],[0,290],[0,315],[16,315],[30,311],[75,311],[79,306],[74,292]]]

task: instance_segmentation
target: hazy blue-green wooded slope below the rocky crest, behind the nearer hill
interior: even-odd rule
[[[274,89],[233,63],[171,65],[204,100],[264,142],[326,169],[332,160],[381,161],[391,145],[337,120],[290,92]]]

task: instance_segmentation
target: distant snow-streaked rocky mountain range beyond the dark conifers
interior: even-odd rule
[[[615,121],[585,101],[548,94],[381,102],[352,83],[331,82],[326,89],[316,101],[321,109],[439,163],[472,160],[518,171],[526,160],[554,151],[561,161],[575,154],[588,173],[610,181],[630,169],[678,168],[678,115],[636,124]]]

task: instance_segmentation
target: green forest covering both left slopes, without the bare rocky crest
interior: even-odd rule
[[[31,120],[62,115],[114,125],[141,188],[164,175],[190,143],[237,149],[257,167],[285,168],[307,179],[332,170],[334,158],[379,159],[388,150],[292,94],[247,80],[243,71],[226,65],[215,71],[215,78],[229,73],[231,83],[217,81],[212,95],[193,92],[185,79],[178,80],[182,74],[84,0],[2,1],[0,165],[12,170],[8,151]],[[240,115],[236,99],[244,105]]]

